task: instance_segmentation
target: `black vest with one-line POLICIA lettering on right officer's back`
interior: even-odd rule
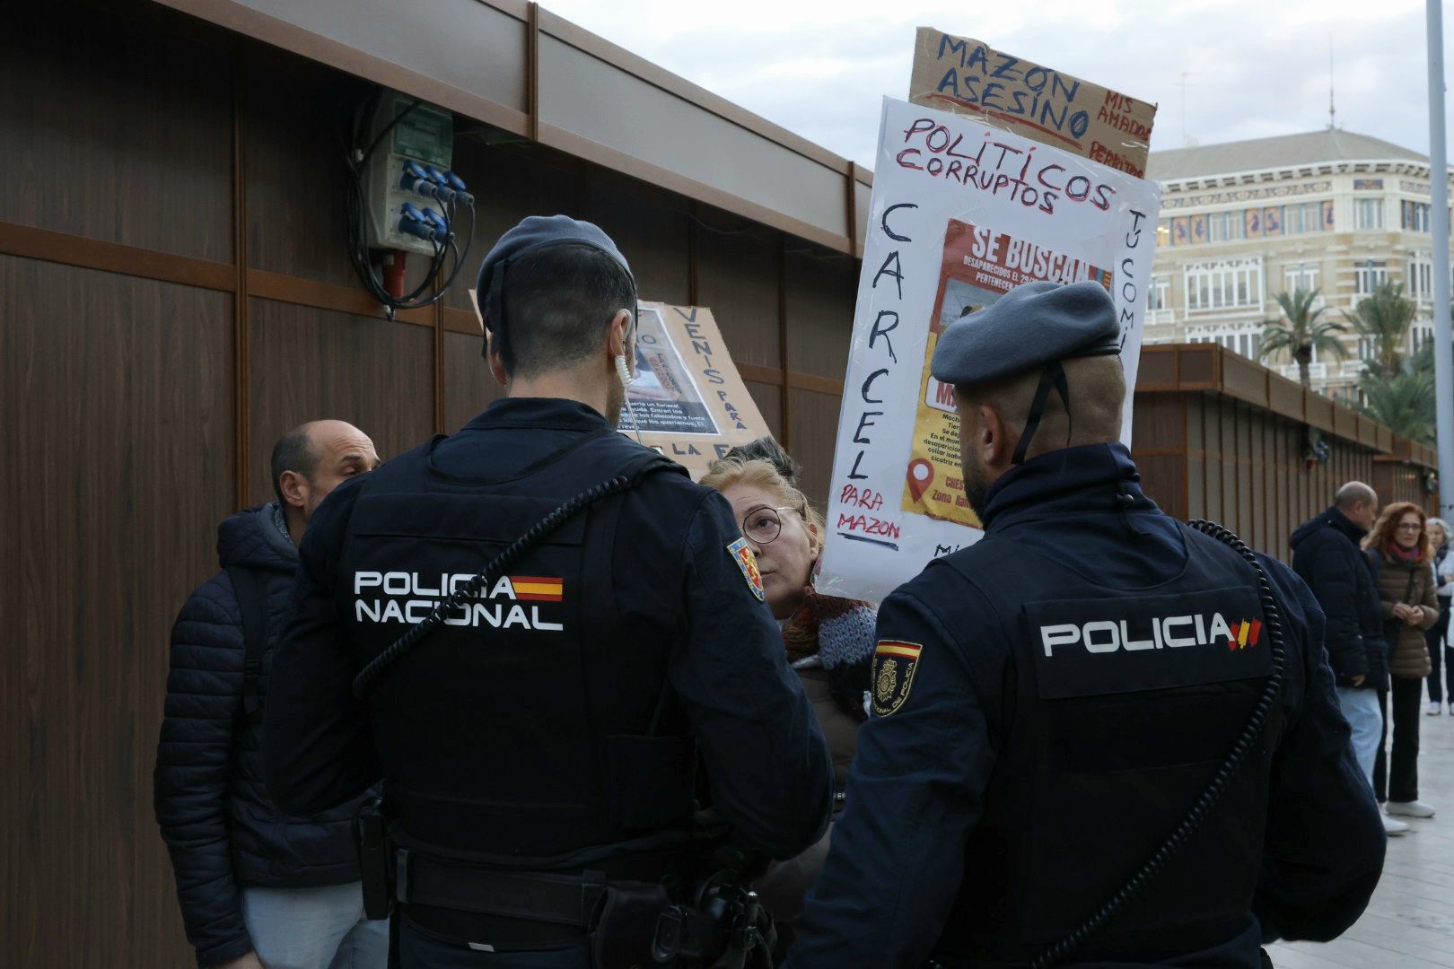
[[[973,577],[1018,623],[1013,716],[938,946],[949,960],[1024,965],[1075,930],[1191,809],[1250,718],[1272,673],[1256,575],[1179,527],[1185,571],[1147,590],[1031,549],[1022,568]],[[1175,860],[1073,960],[1153,962],[1248,930],[1281,723],[1274,712]]]

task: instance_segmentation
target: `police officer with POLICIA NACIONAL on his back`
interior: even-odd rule
[[[832,764],[727,501],[616,431],[616,246],[526,218],[477,293],[506,397],[316,513],[268,789],[310,814],[382,779],[391,851],[365,834],[365,880],[388,877],[406,968],[656,965],[653,936],[689,934],[662,914],[692,902],[694,812],[792,857]]]

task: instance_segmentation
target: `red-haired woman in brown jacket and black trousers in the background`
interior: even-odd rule
[[[1393,693],[1393,753],[1387,757],[1386,770],[1383,744],[1378,744],[1373,787],[1378,800],[1387,799],[1390,815],[1407,818],[1434,816],[1434,808],[1419,800],[1418,766],[1419,708],[1423,703],[1423,677],[1429,674],[1423,631],[1439,617],[1426,520],[1423,508],[1410,501],[1399,501],[1383,510],[1373,532],[1364,539],[1378,599],[1383,601],[1389,692]],[[1378,700],[1387,734],[1387,693],[1380,690]]]

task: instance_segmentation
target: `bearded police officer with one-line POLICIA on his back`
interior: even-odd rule
[[[816,966],[1258,966],[1383,867],[1280,562],[1181,524],[1121,436],[1112,302],[1028,283],[941,336],[976,545],[878,613],[874,715],[797,923]]]

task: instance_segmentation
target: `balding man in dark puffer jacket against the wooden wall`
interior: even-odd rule
[[[377,466],[374,442],[343,421],[278,439],[278,500],[222,522],[222,571],[172,629],[153,796],[199,966],[384,969],[388,957],[388,923],[364,918],[359,799],[288,816],[263,790],[259,758],[297,545],[333,488]]]

